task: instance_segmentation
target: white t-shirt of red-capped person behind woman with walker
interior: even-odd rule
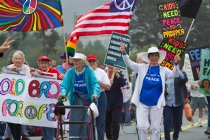
[[[99,82],[102,82],[104,84],[110,85],[110,81],[108,78],[107,73],[101,69],[101,68],[97,68],[96,70],[94,70],[96,77],[98,79]],[[104,89],[101,89],[101,92],[104,91]]]

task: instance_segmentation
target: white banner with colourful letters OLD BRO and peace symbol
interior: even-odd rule
[[[60,82],[2,74],[0,77],[0,121],[57,127],[54,115]],[[66,116],[69,111],[66,111]]]

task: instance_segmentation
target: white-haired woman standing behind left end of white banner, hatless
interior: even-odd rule
[[[25,55],[22,51],[18,50],[14,52],[14,54],[12,55],[12,63],[13,64],[7,66],[7,71],[26,75],[28,77],[31,76],[30,67],[24,64]],[[26,126],[15,123],[8,123],[7,128],[5,130],[5,139],[9,139],[12,135],[13,139],[20,140],[21,134],[22,139],[26,139]]]

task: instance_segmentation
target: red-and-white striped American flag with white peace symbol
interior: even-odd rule
[[[67,41],[80,36],[94,36],[117,32],[127,34],[136,0],[113,0],[81,15]],[[75,48],[76,49],[76,48]]]

